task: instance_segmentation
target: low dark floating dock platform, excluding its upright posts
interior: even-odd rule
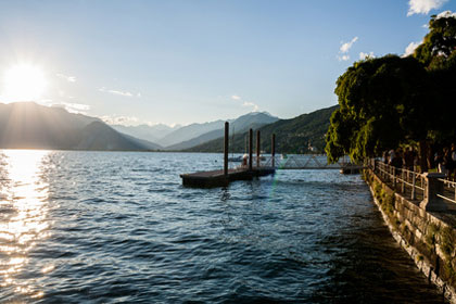
[[[251,180],[254,177],[273,175],[276,169],[273,167],[237,168],[229,169],[225,175],[224,170],[198,172],[192,174],[181,174],[182,185],[185,187],[214,188],[226,187],[235,180]]]

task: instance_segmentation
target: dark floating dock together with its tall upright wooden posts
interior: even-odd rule
[[[197,187],[197,188],[213,188],[213,187],[226,187],[231,181],[235,180],[250,180],[254,177],[261,177],[266,175],[271,175],[276,173],[276,169],[273,166],[265,167],[261,166],[259,161],[259,130],[256,132],[256,167],[253,166],[252,157],[252,142],[253,142],[253,130],[249,131],[249,164],[243,164],[243,166],[235,169],[228,169],[228,150],[229,150],[229,124],[225,123],[225,142],[224,142],[224,169],[211,170],[211,172],[198,172],[192,174],[181,174],[182,185],[186,187]],[[273,147],[275,145],[275,136],[273,136]],[[274,156],[273,148],[273,156]]]

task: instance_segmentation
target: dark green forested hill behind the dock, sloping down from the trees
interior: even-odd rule
[[[270,152],[270,137],[276,134],[276,153],[308,153],[308,144],[314,147],[318,153],[325,149],[325,135],[328,131],[329,118],[339,105],[321,109],[308,114],[303,114],[291,119],[280,119],[276,123],[259,128],[262,138],[262,150]],[[230,152],[244,153],[248,134],[230,135]],[[256,142],[256,130],[254,141]],[[186,151],[190,152],[223,152],[223,138],[217,138],[203,144],[193,147]]]

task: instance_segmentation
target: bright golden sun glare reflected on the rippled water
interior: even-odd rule
[[[48,154],[29,150],[0,152],[0,287],[31,297],[41,297],[43,292],[35,280],[26,279],[23,270],[28,252],[49,237],[48,185],[41,178],[41,163]],[[48,265],[42,273],[52,268]]]

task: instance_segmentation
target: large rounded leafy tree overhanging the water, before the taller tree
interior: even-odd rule
[[[427,73],[414,58],[387,55],[356,62],[337,81],[340,109],[327,132],[330,162],[379,155],[420,138]]]

